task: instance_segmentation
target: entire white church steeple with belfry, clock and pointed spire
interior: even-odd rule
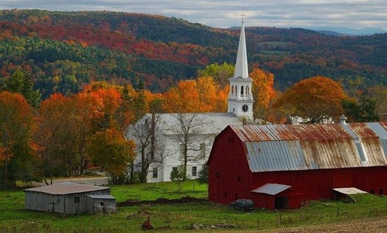
[[[253,79],[249,77],[246,51],[245,23],[242,20],[235,72],[234,76],[229,79],[230,93],[227,112],[234,113],[237,117],[246,117],[253,120]]]

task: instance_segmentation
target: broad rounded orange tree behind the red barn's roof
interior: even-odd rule
[[[341,102],[347,99],[341,85],[323,76],[301,80],[278,98],[275,107],[292,108],[292,115],[305,123],[322,123],[332,117],[337,121],[343,113]]]

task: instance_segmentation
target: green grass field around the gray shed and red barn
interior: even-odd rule
[[[181,196],[205,197],[206,186],[188,181],[180,192],[174,183],[151,183],[112,186],[112,195],[117,201],[127,199],[154,200],[159,197]],[[255,210],[239,212],[227,206],[208,202],[120,207],[111,215],[63,216],[24,210],[24,194],[21,190],[0,191],[0,232],[58,232],[58,233],[102,233],[139,232],[141,224],[150,217],[154,227],[169,226],[170,230],[153,232],[182,232],[191,223],[238,225],[236,232],[269,230],[315,224],[330,224],[347,220],[384,217],[387,215],[387,197],[370,194],[355,195],[356,203],[339,201],[315,201],[299,210],[269,211]],[[219,230],[212,230],[219,231]],[[191,232],[191,231],[190,231]],[[200,232],[206,232],[201,230]]]

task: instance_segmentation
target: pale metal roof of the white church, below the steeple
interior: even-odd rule
[[[182,117],[187,121],[193,120],[191,125],[194,125],[194,128],[192,131],[197,134],[218,134],[228,125],[242,125],[242,121],[233,113],[165,113],[156,115],[159,131],[166,135],[179,134]],[[146,119],[150,120],[151,114],[146,114],[136,124],[143,124]]]

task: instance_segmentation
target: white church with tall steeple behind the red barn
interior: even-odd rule
[[[215,136],[228,125],[253,120],[253,79],[247,65],[244,22],[235,73],[229,81],[227,113],[146,114],[129,125],[126,137],[137,145],[135,171],[142,170],[147,182],[170,181],[171,172],[186,163],[187,175],[194,179],[207,162]]]

